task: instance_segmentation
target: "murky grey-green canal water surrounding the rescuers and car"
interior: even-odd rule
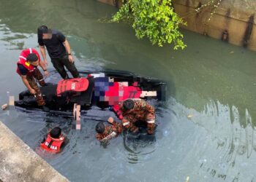
[[[49,128],[63,128],[64,151],[43,157],[70,181],[256,181],[255,52],[188,31],[184,51],[153,47],[127,25],[100,23],[115,11],[93,0],[0,0],[0,103],[8,91],[17,98],[24,90],[15,63],[23,48],[38,49],[35,33],[46,24],[67,35],[79,69],[121,69],[167,82],[155,142],[124,134],[103,148],[94,121],[83,121],[78,132],[70,119],[13,108],[0,111],[0,120],[34,150]]]

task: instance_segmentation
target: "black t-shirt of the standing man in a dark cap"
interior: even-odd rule
[[[63,58],[65,55],[67,55],[63,44],[66,37],[60,31],[56,30],[52,30],[52,34],[53,36],[51,39],[38,39],[38,43],[40,46],[46,47],[51,59]]]

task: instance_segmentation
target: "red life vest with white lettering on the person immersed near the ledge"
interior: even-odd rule
[[[46,140],[41,143],[40,146],[42,149],[45,149],[45,151],[59,153],[64,139],[64,135],[61,135],[60,138],[51,138],[50,133],[48,133]]]

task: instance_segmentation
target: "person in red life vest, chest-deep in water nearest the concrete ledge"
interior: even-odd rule
[[[47,138],[40,144],[41,148],[51,153],[59,153],[64,147],[65,137],[60,127],[54,127],[47,135]]]

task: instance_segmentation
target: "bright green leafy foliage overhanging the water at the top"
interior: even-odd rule
[[[179,25],[185,25],[178,17],[171,0],[129,0],[116,15],[113,22],[125,21],[132,24],[138,39],[148,37],[152,44],[173,44],[174,50],[186,47]]]

